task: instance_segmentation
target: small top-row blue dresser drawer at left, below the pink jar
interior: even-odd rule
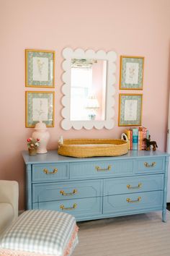
[[[32,165],[32,182],[51,182],[68,179],[68,164],[45,163]]]

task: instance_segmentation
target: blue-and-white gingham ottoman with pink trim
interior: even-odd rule
[[[0,255],[71,255],[78,243],[76,220],[54,210],[27,210],[0,236]]]

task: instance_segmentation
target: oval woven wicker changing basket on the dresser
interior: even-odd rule
[[[112,139],[68,139],[58,145],[58,154],[75,158],[116,156],[128,153],[128,142]]]

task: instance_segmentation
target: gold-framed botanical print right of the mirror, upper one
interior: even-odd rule
[[[144,57],[120,56],[120,90],[143,90]]]

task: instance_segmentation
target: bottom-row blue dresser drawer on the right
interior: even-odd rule
[[[103,212],[118,213],[145,209],[160,210],[163,203],[163,191],[109,195],[104,197]]]

